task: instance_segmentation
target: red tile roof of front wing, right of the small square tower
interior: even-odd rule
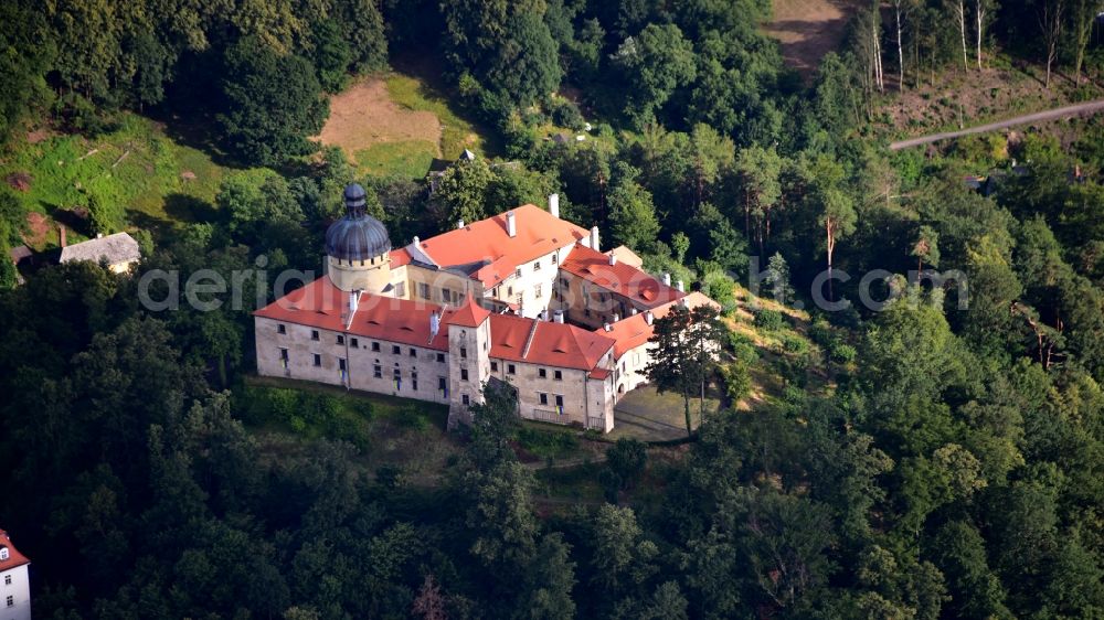
[[[583,371],[593,371],[614,346],[613,339],[575,325],[509,314],[491,314],[490,339],[491,357]]]

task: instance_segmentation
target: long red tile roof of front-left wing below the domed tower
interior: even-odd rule
[[[395,299],[362,293],[352,324],[346,329],[349,293],[338,289],[329,276],[322,276],[307,286],[291,291],[273,303],[254,312],[276,321],[308,325],[353,335],[386,340],[403,344],[448,350],[448,330],[438,330],[429,340],[429,314],[443,312],[442,324],[447,324],[455,310],[435,303]]]

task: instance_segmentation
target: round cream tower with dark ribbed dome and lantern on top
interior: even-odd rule
[[[330,280],[341,290],[382,293],[391,282],[391,239],[383,223],[364,213],[368,194],[346,186],[346,215],[326,231]]]

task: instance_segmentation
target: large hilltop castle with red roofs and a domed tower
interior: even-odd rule
[[[511,385],[527,419],[608,432],[614,405],[647,381],[652,322],[714,303],[657,279],[598,228],[527,204],[393,248],[344,190],[326,233],[327,274],[256,311],[262,375],[449,405],[470,419],[488,382]]]

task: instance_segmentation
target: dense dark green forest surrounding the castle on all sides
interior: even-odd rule
[[[998,57],[1098,82],[1101,11],[856,6],[806,78],[761,32],[764,0],[3,2],[4,158],[31,127],[94,137],[142,115],[244,171],[199,221],[136,233],[129,277],[78,263],[15,286],[0,261],[0,526],[32,559],[34,616],[1104,617],[1104,121],[898,152],[873,129],[896,93]],[[330,94],[411,58],[502,143],[432,195],[309,139]],[[964,184],[979,171],[992,191]],[[140,276],[317,268],[353,180],[396,247],[559,192],[564,217],[725,312],[769,264],[762,295],[809,309],[817,346],[677,462],[611,446],[601,502],[538,510],[492,389],[433,484],[368,470],[340,428],[273,450],[253,308],[152,311]],[[26,233],[9,185],[4,252]],[[97,191],[73,194],[89,236],[134,231]],[[875,269],[877,310],[858,303]],[[850,279],[826,293],[825,270]],[[745,373],[768,363],[725,348]]]

